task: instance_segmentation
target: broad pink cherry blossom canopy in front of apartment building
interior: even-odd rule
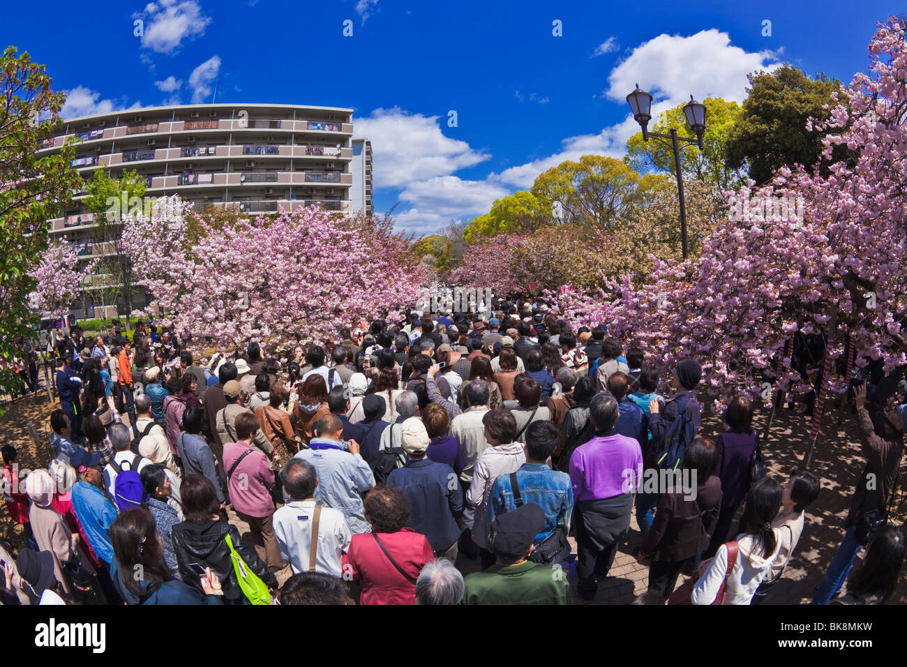
[[[197,214],[164,208],[128,218],[124,240],[137,283],[155,298],[141,314],[160,314],[192,348],[256,341],[274,352],[297,340],[338,340],[353,321],[394,317],[424,284],[424,268],[387,221],[316,207],[219,229],[198,219],[190,245],[187,222]]]

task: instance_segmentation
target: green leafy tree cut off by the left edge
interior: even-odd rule
[[[35,280],[28,272],[47,249],[48,221],[63,215],[80,182],[72,145],[39,154],[60,123],[64,101],[44,65],[6,48],[0,56],[0,358],[12,358],[15,339],[32,332],[26,296]],[[20,384],[11,370],[0,370],[4,390]]]

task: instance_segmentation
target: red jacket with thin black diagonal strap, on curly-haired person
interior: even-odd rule
[[[428,538],[412,528],[396,533],[379,533],[387,553],[413,579],[434,559]],[[375,542],[375,535],[353,535],[349,551],[343,556],[343,574],[362,580],[360,604],[415,604],[415,584],[406,581]]]

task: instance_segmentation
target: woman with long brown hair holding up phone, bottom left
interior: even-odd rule
[[[204,594],[173,578],[154,516],[145,507],[122,512],[108,535],[113,547],[111,578],[127,604],[221,604],[220,580],[210,568],[191,574]]]

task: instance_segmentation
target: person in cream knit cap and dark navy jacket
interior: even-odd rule
[[[387,485],[398,486],[406,496],[408,525],[428,538],[435,555],[453,562],[462,532],[457,519],[463,516],[463,492],[459,484],[451,484],[456,474],[451,466],[425,456],[431,441],[422,419],[409,417],[400,430],[407,463],[391,472]]]

